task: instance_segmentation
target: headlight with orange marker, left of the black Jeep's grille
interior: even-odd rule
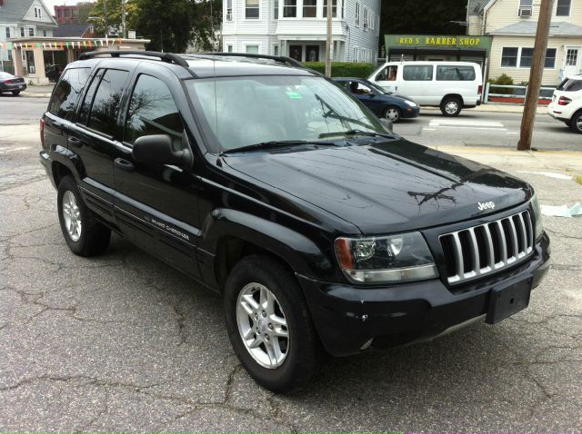
[[[336,257],[356,283],[400,283],[438,277],[433,255],[419,232],[377,238],[338,238]]]

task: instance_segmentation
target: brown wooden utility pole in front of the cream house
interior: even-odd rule
[[[526,104],[524,105],[524,115],[521,118],[521,133],[519,134],[517,151],[528,151],[531,149],[531,139],[534,133],[534,123],[536,122],[539,88],[542,84],[544,64],[546,62],[547,39],[549,37],[549,26],[552,21],[552,6],[554,5],[554,0],[541,0],[541,2],[539,20],[537,21],[536,44],[534,44],[534,56],[529,73]]]

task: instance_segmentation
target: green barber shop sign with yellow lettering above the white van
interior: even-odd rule
[[[386,60],[459,61],[481,64],[486,70],[491,36],[385,35]]]

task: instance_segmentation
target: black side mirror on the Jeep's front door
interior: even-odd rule
[[[135,162],[170,164],[187,169],[192,166],[190,150],[174,151],[172,137],[167,134],[144,135],[135,140],[132,150]]]

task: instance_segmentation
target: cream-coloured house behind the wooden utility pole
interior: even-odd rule
[[[469,0],[469,35],[492,36],[488,77],[529,80],[540,3],[537,0]],[[582,0],[555,0],[543,85],[559,84],[582,69]]]

